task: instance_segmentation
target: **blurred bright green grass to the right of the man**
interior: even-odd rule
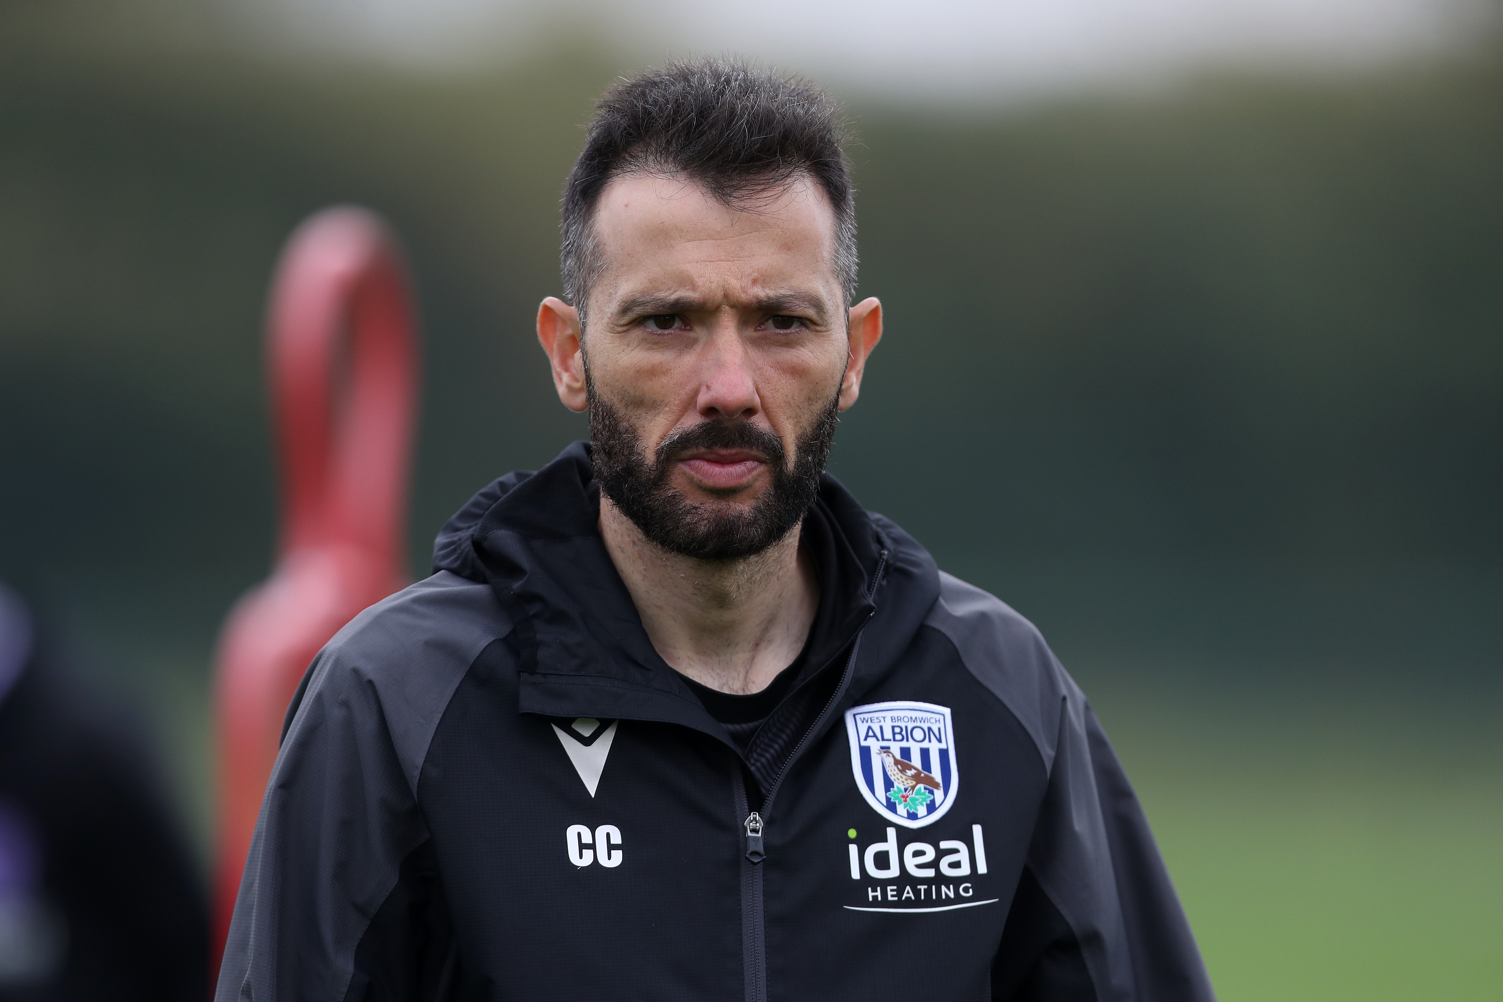
[[[1483,715],[1395,694],[1353,708],[1351,691],[1290,694],[1293,712],[1165,691],[1094,702],[1219,997],[1500,997],[1495,703]]]

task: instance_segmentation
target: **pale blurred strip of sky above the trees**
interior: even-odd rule
[[[269,41],[472,68],[570,36],[752,54],[894,96],[998,99],[1205,65],[1333,69],[1465,38],[1489,0],[225,0]]]

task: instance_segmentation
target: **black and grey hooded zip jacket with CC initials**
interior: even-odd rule
[[[742,748],[598,512],[585,443],[500,478],[314,659],[221,1002],[1213,997],[1033,625],[825,475],[816,626]]]

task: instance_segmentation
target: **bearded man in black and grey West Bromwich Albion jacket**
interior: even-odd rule
[[[833,104],[606,93],[482,490],[293,702],[219,997],[1208,999],[1039,634],[822,475],[882,335]]]

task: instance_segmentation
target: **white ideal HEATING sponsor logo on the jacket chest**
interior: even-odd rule
[[[861,880],[866,900],[846,904],[849,912],[953,912],[998,898],[977,897],[975,883],[966,877],[986,874],[986,838],[980,825],[971,825],[971,840],[942,838],[938,844],[911,841],[900,844],[897,829],[887,838],[861,846],[857,831],[846,832],[851,879]]]

